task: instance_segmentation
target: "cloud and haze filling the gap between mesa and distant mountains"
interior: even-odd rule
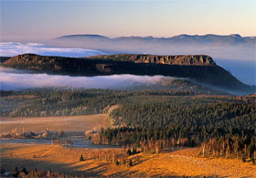
[[[185,45],[183,43],[174,45],[167,42],[156,43],[154,40],[144,40],[144,42],[139,40],[138,42],[136,38],[130,39],[129,42],[123,40],[115,43],[106,40],[67,40],[66,42],[52,42],[52,45],[59,44],[62,47],[51,47],[50,45],[46,46],[37,43],[21,44],[6,42],[0,43],[0,56],[13,57],[24,53],[78,58],[115,53],[147,53],[158,55],[206,54],[211,56],[220,67],[229,70],[240,81],[249,85],[256,85],[256,51],[255,46],[252,45],[252,47],[251,44],[237,46],[220,46],[215,44],[209,46],[198,44],[189,45],[189,43]],[[95,50],[88,49],[89,47]]]

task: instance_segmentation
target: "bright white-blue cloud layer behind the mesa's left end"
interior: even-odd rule
[[[104,55],[99,50],[91,50],[76,47],[47,47],[37,43],[0,43],[1,57],[14,57],[16,55],[33,53],[44,56],[60,56],[60,57],[88,57],[94,55]]]

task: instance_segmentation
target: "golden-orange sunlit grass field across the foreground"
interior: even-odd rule
[[[105,150],[106,151],[106,150]],[[112,149],[121,152],[121,149]],[[256,177],[256,165],[237,159],[197,158],[197,148],[185,148],[164,153],[139,153],[140,163],[127,167],[112,162],[95,161],[92,150],[67,148],[56,145],[1,144],[1,166],[13,170],[15,165],[27,170],[50,170],[51,172],[85,176],[215,176]],[[85,161],[79,162],[83,154]]]

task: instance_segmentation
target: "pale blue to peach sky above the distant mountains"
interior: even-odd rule
[[[1,0],[2,39],[70,34],[256,36],[255,0]]]

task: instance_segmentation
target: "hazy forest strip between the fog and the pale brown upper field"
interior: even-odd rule
[[[122,104],[138,96],[191,96],[192,91],[143,90],[125,91],[111,89],[27,89],[24,91],[0,91],[1,97],[24,96],[24,98],[2,98],[10,106],[3,106],[2,116],[39,117],[70,116],[101,113],[108,106]],[[27,96],[32,99],[24,104]],[[146,101],[146,100],[145,100]],[[20,104],[18,104],[18,102]],[[5,108],[5,110],[4,110]]]

